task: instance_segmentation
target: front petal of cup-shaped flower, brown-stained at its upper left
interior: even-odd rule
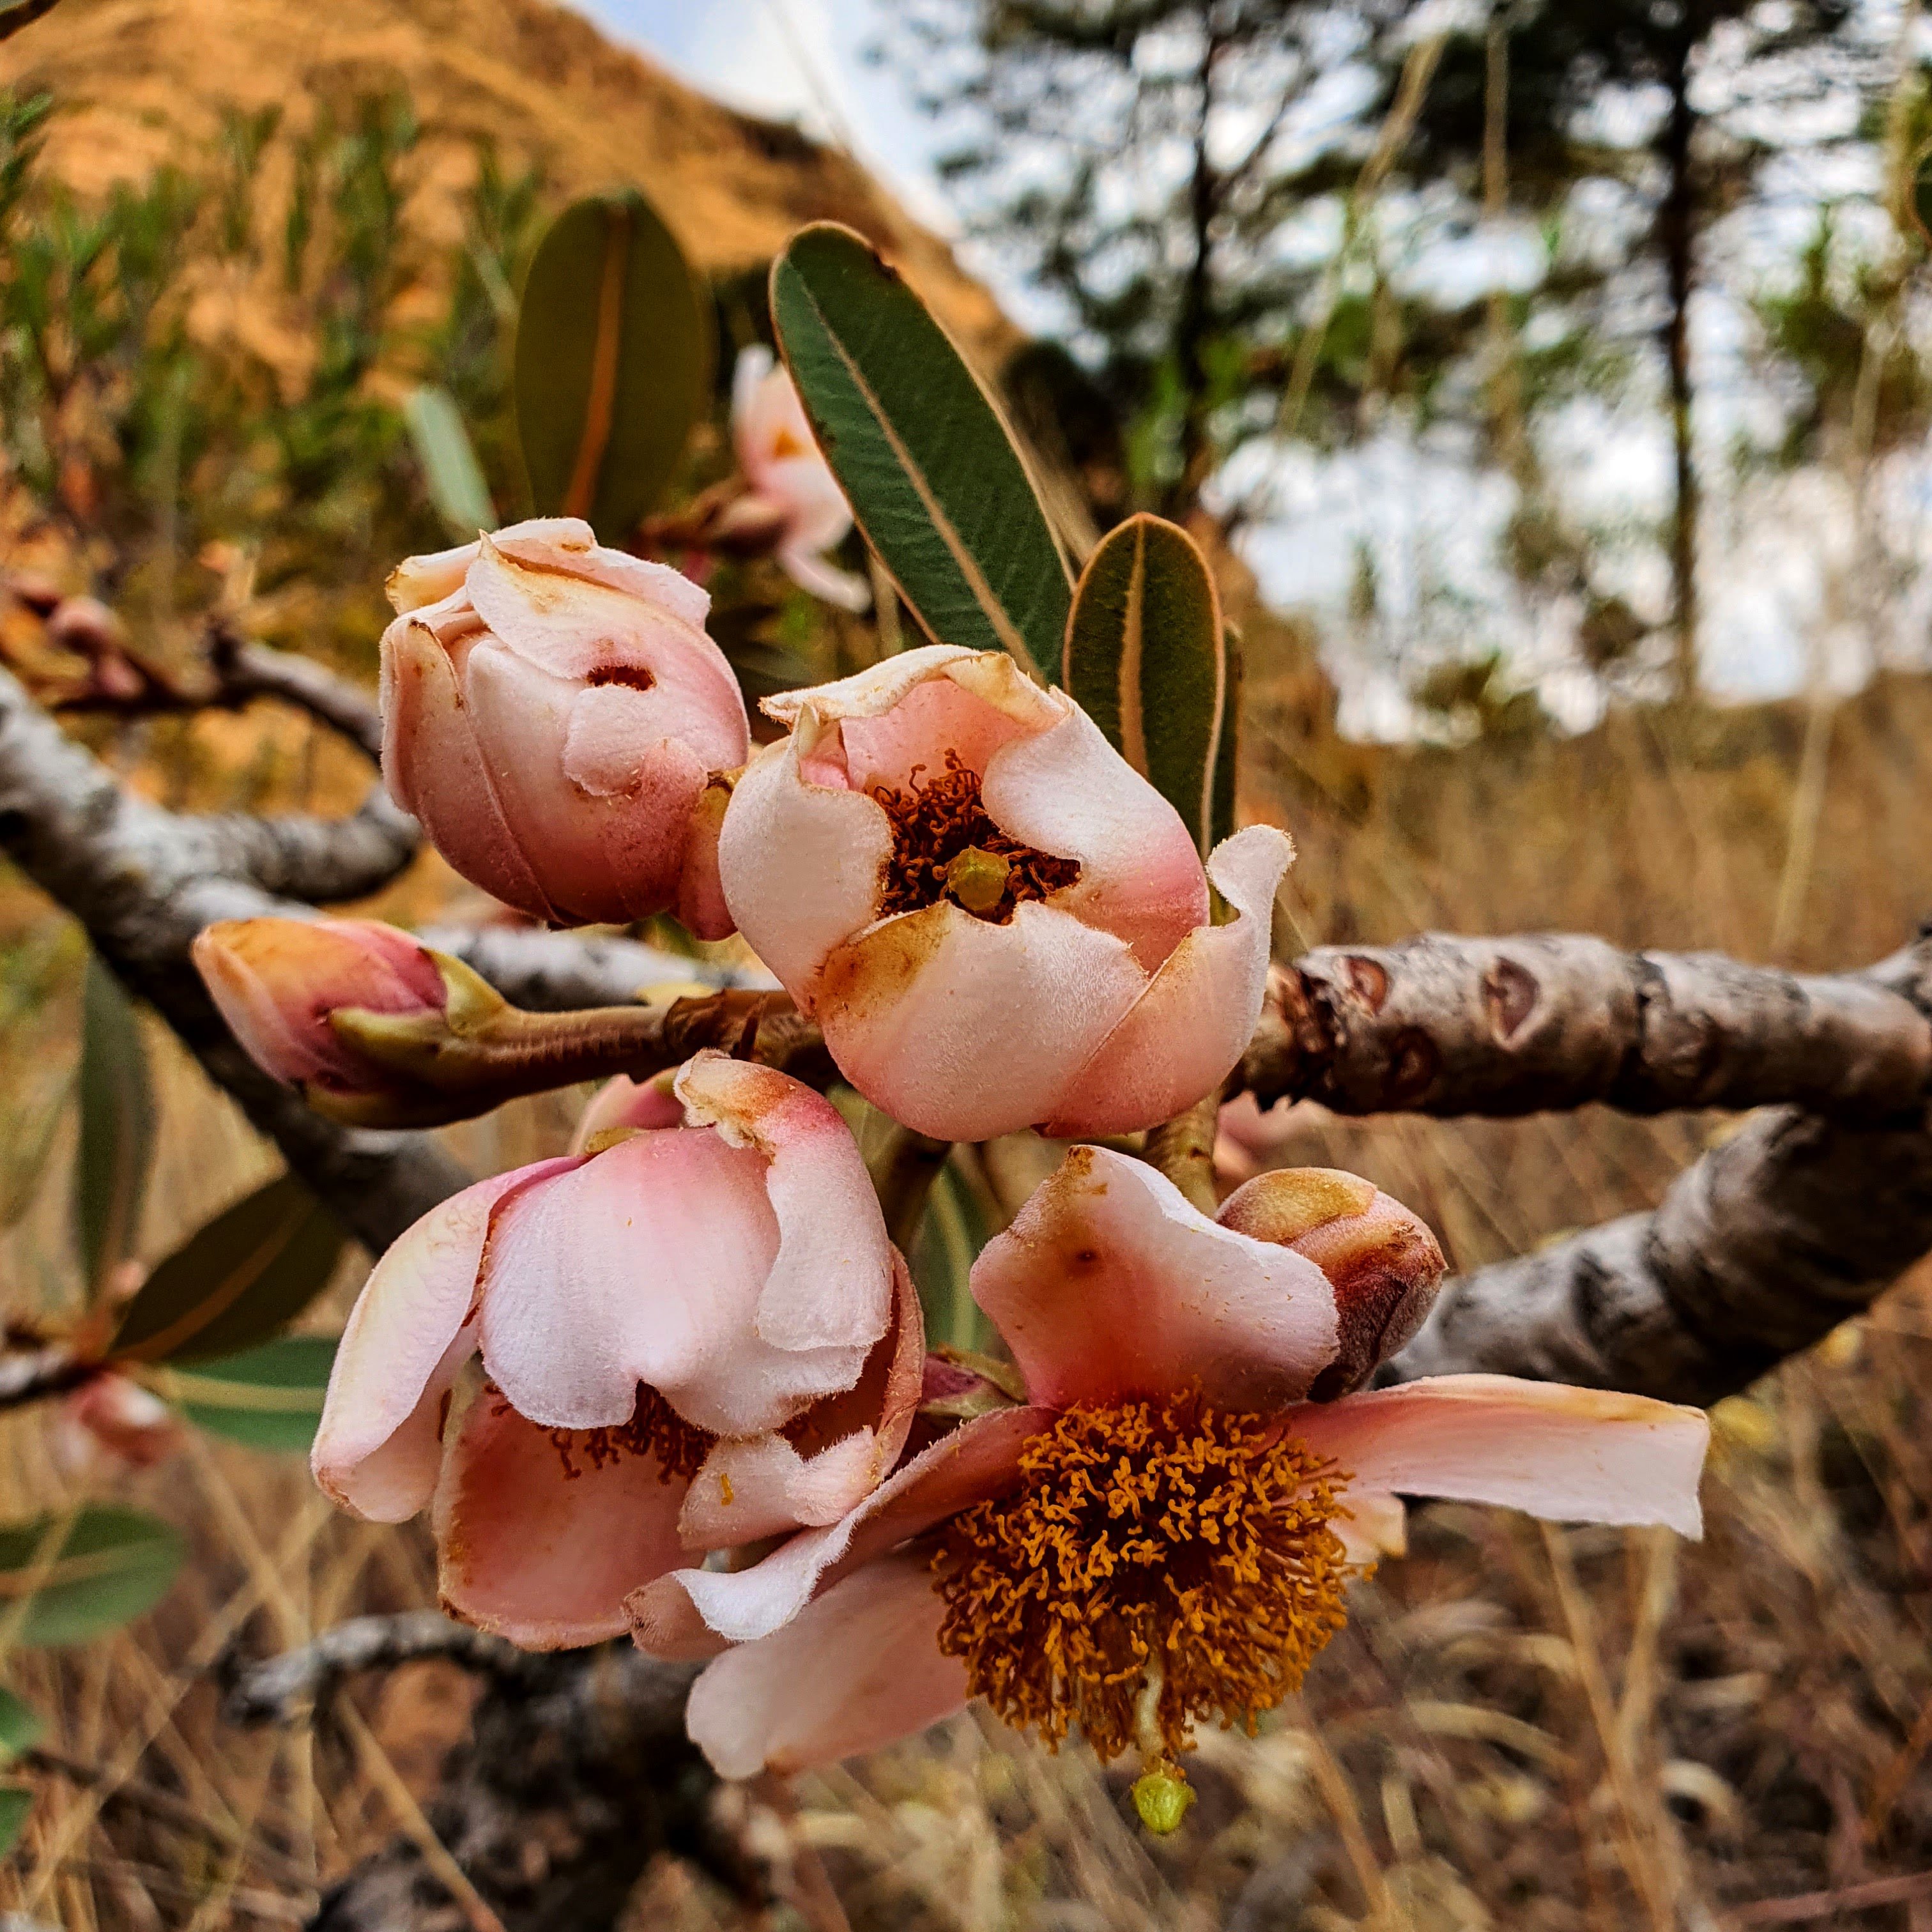
[[[991,1140],[1057,1111],[1144,985],[1124,941],[1053,904],[993,925],[939,900],[838,947],[815,1007],[875,1107],[920,1134]]]

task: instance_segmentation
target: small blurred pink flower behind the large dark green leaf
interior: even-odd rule
[[[769,516],[779,529],[779,568],[804,591],[840,611],[864,611],[871,591],[864,578],[838,570],[825,551],[852,527],[852,510],[819,456],[804,404],[771,350],[753,344],[738,352],[732,371],[730,433],[738,468],[750,491],[732,504],[738,520]]]

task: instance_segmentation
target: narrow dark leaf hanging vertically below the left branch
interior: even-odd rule
[[[87,954],[81,985],[81,1142],[73,1157],[73,1236],[99,1294],[135,1244],[155,1157],[155,1086],[141,1022],[120,980]]]

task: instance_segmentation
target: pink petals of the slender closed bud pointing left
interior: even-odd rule
[[[338,1007],[442,1012],[450,997],[435,958],[377,920],[218,920],[193,958],[257,1066],[334,1097],[398,1088],[328,1024]]]

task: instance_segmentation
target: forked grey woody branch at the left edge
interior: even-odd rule
[[[413,827],[404,835],[381,810],[344,825],[176,817],[131,798],[0,672],[0,850],[87,927],[128,987],[369,1248],[381,1252],[464,1186],[427,1136],[340,1128],[261,1072],[187,958],[211,920],[305,910],[274,898],[278,889],[303,898],[373,891],[408,862]]]

